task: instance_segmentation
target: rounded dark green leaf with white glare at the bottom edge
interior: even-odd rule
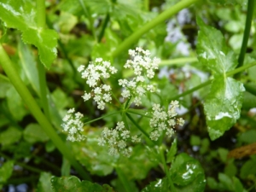
[[[170,169],[178,191],[204,191],[206,180],[200,163],[189,154],[178,154]]]

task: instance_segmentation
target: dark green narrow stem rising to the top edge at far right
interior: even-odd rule
[[[241,50],[238,57],[238,67],[241,67],[243,65],[244,57],[247,52],[247,43],[250,36],[251,26],[252,26],[252,20],[253,20],[253,9],[254,9],[254,0],[248,0],[247,4],[247,20],[245,24],[245,29],[243,32],[243,38],[241,43]],[[240,73],[236,74],[236,78],[240,77]]]

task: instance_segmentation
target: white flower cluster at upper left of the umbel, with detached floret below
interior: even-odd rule
[[[97,58],[95,63],[90,62],[89,66],[84,69],[84,66],[78,68],[82,78],[86,79],[93,91],[93,94],[84,91],[84,102],[89,100],[92,95],[94,101],[97,103],[97,108],[103,110],[106,102],[111,102],[112,97],[110,94],[111,87],[108,84],[102,84],[102,79],[108,79],[110,74],[117,73],[117,69],[111,66],[110,62],[103,61],[102,58]]]

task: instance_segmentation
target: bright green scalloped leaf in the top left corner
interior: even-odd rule
[[[37,26],[35,8],[31,1],[3,0],[0,2],[0,19],[5,26],[19,29],[24,43],[38,47],[40,61],[49,68],[56,57],[58,34]]]

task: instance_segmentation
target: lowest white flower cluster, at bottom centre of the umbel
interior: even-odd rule
[[[131,140],[132,143],[139,143],[141,138],[137,135],[131,137],[130,131],[125,129],[123,121],[119,121],[115,129],[105,127],[102,131],[102,137],[98,139],[98,144],[104,146],[108,144],[109,155],[123,154],[126,157],[131,156],[131,147],[128,148],[126,141]]]

